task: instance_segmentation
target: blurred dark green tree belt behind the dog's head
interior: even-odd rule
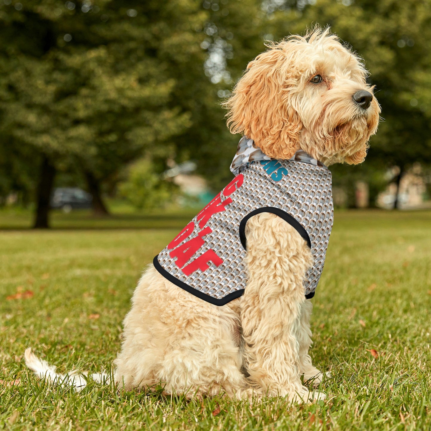
[[[384,122],[363,165],[331,169],[349,205],[357,181],[373,203],[388,169],[399,184],[431,164],[430,21],[430,0],[0,0],[0,203],[16,193],[47,227],[69,181],[106,214],[103,191],[142,157],[154,175],[193,159],[219,189],[238,141],[219,102],[264,39],[317,22],[372,71]]]

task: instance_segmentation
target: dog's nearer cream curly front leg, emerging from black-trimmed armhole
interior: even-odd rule
[[[310,250],[292,226],[271,213],[252,217],[246,237],[248,281],[241,324],[250,383],[270,396],[322,399],[324,394],[310,394],[300,380],[297,330]]]

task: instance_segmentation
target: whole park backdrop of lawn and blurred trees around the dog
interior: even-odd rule
[[[109,371],[142,269],[231,179],[220,103],[265,40],[315,23],[365,59],[382,108],[365,162],[331,166],[312,321],[328,400],[38,383],[28,346]],[[429,0],[0,0],[0,427],[429,429],[430,40]],[[50,209],[63,187],[92,207]]]

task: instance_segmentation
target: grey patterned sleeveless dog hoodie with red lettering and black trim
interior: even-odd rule
[[[313,266],[303,282],[314,296],[333,222],[331,172],[300,150],[274,160],[243,137],[231,165],[235,178],[153,260],[165,278],[222,306],[247,285],[245,225],[271,212],[292,225],[311,248]]]

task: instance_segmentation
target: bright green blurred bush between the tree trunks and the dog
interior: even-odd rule
[[[163,208],[172,202],[177,187],[154,172],[149,159],[140,159],[128,168],[128,178],[119,184],[119,193],[136,209]]]

